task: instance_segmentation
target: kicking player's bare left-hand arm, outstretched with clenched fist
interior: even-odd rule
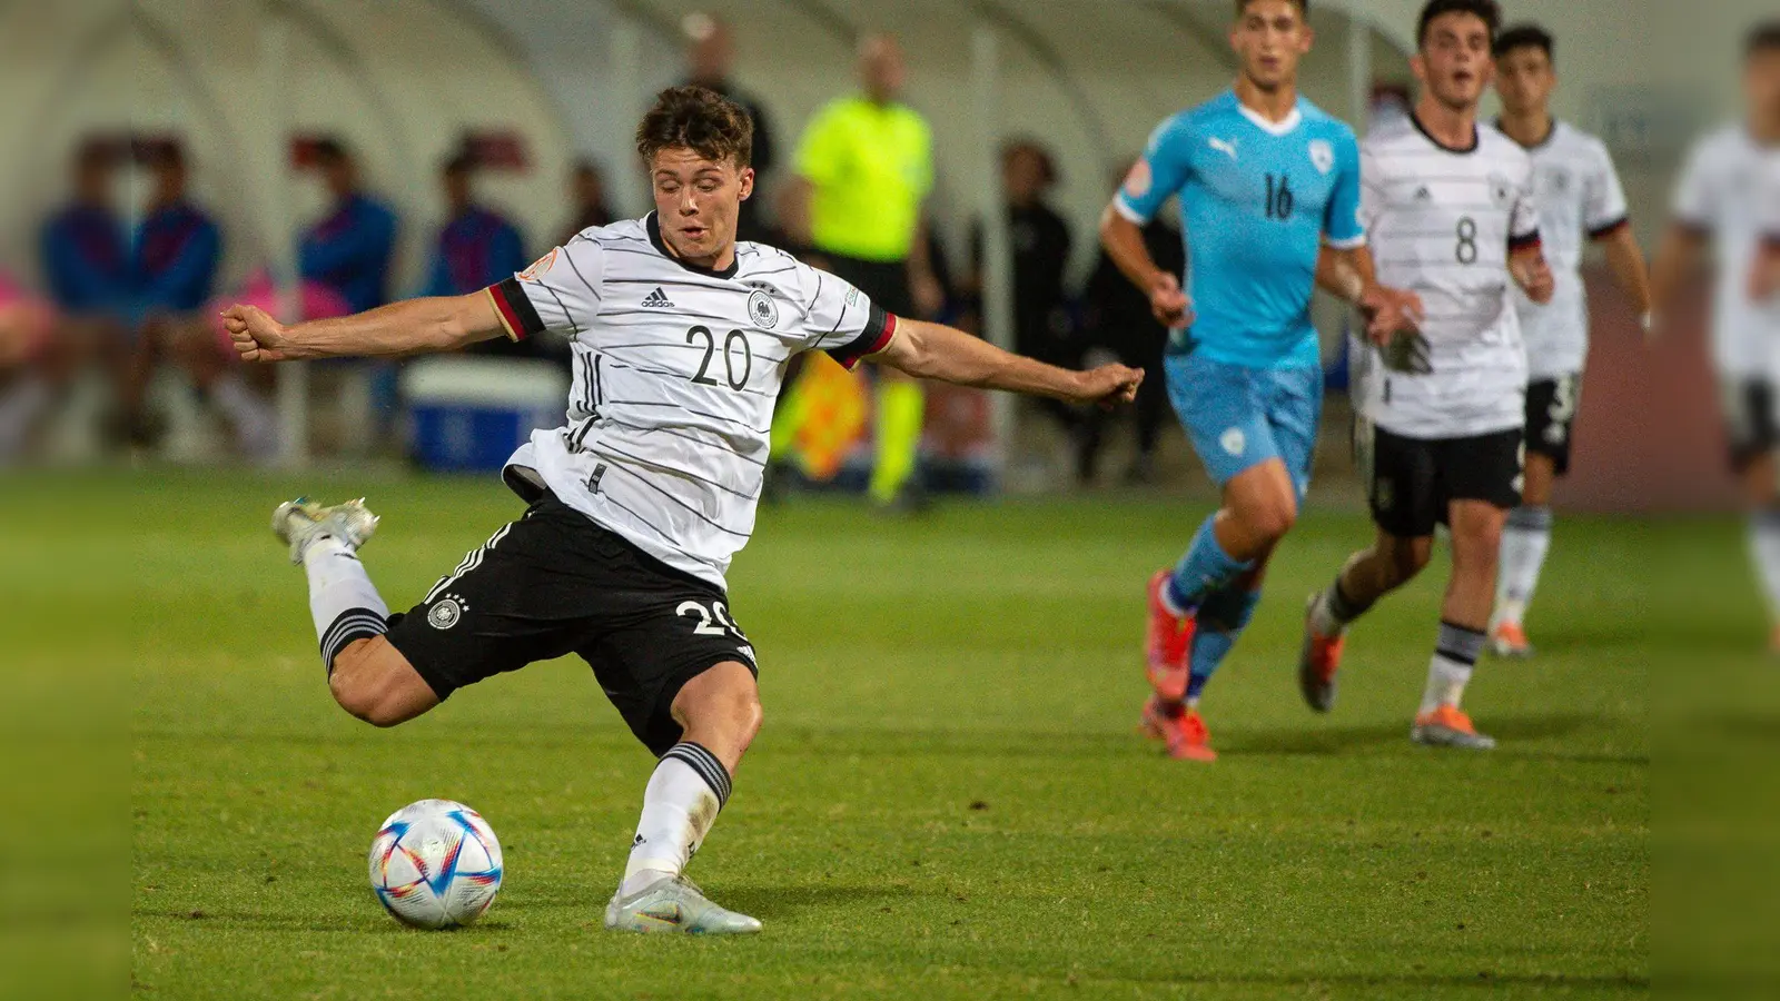
[[[390,303],[349,317],[281,324],[258,306],[222,310],[244,362],[388,358],[456,351],[506,333],[486,292]]]

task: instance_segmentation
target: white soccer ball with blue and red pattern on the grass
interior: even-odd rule
[[[500,842],[463,803],[409,803],[370,842],[370,889],[402,924],[461,928],[495,903]]]

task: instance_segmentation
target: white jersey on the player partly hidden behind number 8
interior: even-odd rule
[[[1527,342],[1527,376],[1558,379],[1582,370],[1588,360],[1588,292],[1582,251],[1627,224],[1625,189],[1607,146],[1593,135],[1552,123],[1550,135],[1527,148],[1533,196],[1540,207],[1540,240],[1558,280],[1549,305],[1513,287],[1520,337]]]

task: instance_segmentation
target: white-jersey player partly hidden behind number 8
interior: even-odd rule
[[[1540,235],[1556,280],[1552,301],[1543,306],[1515,290],[1527,344],[1527,468],[1520,506],[1502,531],[1490,643],[1499,655],[1525,657],[1533,654],[1525,614],[1550,552],[1552,484],[1570,472],[1572,431],[1582,403],[1588,362],[1582,251],[1591,240],[1606,249],[1613,278],[1645,317],[1646,331],[1650,276],[1607,146],[1550,114],[1558,87],[1552,36],[1538,25],[1508,28],[1495,41],[1495,91],[1502,98],[1497,128],[1533,157]]]

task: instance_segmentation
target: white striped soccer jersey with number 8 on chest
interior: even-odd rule
[[[1511,248],[1540,240],[1533,160],[1495,128],[1449,150],[1413,119],[1360,148],[1360,214],[1378,281],[1422,297],[1429,374],[1371,358],[1362,411],[1406,438],[1470,438],[1525,422],[1527,354],[1508,294]]]

